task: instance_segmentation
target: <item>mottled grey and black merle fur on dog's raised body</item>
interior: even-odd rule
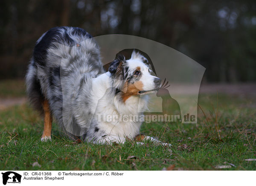
[[[82,115],[91,115],[86,108],[90,94],[84,90],[90,90],[91,78],[104,72],[99,46],[90,34],[81,28],[52,28],[35,44],[26,74],[29,101],[43,113],[42,102],[47,99],[61,130],[71,138],[81,136],[88,130],[81,124],[90,122]],[[63,102],[63,96],[68,101]],[[70,122],[74,135],[65,130],[63,121]]]

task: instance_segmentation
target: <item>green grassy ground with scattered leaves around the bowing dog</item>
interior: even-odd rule
[[[254,95],[203,91],[197,124],[143,123],[172,147],[78,144],[55,123],[52,142],[41,142],[43,119],[24,96],[23,81],[0,82],[0,170],[256,170]]]

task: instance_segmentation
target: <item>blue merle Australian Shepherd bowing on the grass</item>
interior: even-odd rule
[[[105,72],[99,46],[84,29],[55,27],[35,43],[26,74],[29,101],[44,114],[41,141],[51,140],[52,117],[67,136],[93,143],[138,143],[156,138],[140,134],[143,121],[106,121],[103,116],[139,116],[148,94],[161,79],[151,75],[147,59],[135,52],[117,54]],[[138,111],[140,110],[140,112]]]

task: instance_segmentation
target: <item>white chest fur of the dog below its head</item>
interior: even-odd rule
[[[132,139],[140,133],[142,122],[133,120],[132,117],[139,117],[138,106],[146,108],[147,95],[131,96],[124,103],[120,103],[118,96],[111,96],[112,88],[108,72],[92,80],[93,100],[90,108],[94,116],[87,133],[88,140],[97,139],[98,141],[95,142],[106,142],[119,139],[122,141],[125,137]]]

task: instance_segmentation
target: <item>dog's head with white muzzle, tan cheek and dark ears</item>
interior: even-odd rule
[[[108,70],[112,86],[124,102],[130,96],[156,93],[160,88],[161,79],[151,75],[147,59],[139,52],[133,51],[128,60],[123,55],[116,55]]]

